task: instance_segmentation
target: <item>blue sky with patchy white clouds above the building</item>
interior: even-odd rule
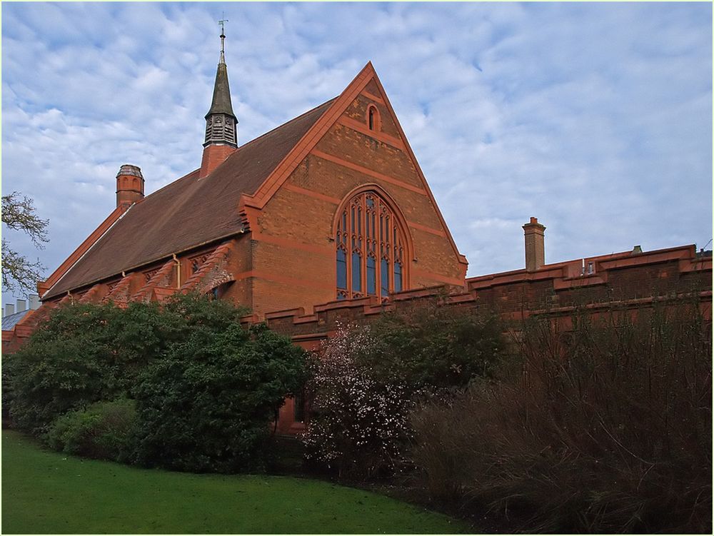
[[[50,242],[49,275],[115,206],[198,168],[225,12],[240,143],[340,93],[372,61],[468,275],[712,238],[712,5],[8,3],[2,192]],[[3,303],[14,301],[5,293]]]

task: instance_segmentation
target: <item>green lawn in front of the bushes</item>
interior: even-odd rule
[[[461,521],[329,482],[142,470],[2,432],[3,533],[467,531]]]

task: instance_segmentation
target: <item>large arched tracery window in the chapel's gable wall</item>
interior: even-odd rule
[[[402,226],[376,191],[344,203],[335,242],[337,299],[381,299],[406,288],[406,241]]]

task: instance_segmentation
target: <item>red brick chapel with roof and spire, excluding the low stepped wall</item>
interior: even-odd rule
[[[121,166],[116,209],[39,283],[45,305],[197,290],[263,318],[463,285],[466,258],[371,64],[335,98],[239,145],[221,51],[205,118],[201,166],[186,176],[144,196],[151,178]]]

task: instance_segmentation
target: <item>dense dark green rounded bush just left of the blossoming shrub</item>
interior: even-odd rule
[[[198,322],[196,317],[193,322]],[[190,330],[141,375],[134,460],[186,471],[261,470],[269,423],[301,389],[306,353],[265,325]]]

